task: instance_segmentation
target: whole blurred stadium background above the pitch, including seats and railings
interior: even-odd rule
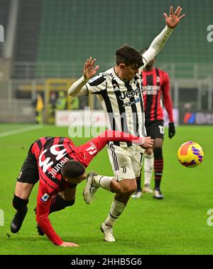
[[[64,79],[66,84],[79,78],[88,57],[96,57],[99,71],[104,71],[114,65],[121,45],[148,47],[163,29],[163,13],[169,13],[170,4],[168,0],[0,0],[0,25],[7,35],[13,21],[10,35],[16,33],[14,42],[0,42],[0,88],[7,88],[0,91],[0,98],[28,99],[31,105],[35,93],[43,92],[48,100],[51,87],[46,81]],[[187,88],[195,95],[197,108],[212,110],[213,42],[207,40],[207,27],[213,25],[213,2],[173,0],[173,6],[178,5],[187,16],[158,54],[156,65],[170,74],[175,108],[184,105],[182,93]],[[13,44],[12,50],[8,44]],[[9,59],[3,59],[5,48],[11,52]]]

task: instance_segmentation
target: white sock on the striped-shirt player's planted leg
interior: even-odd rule
[[[111,204],[108,217],[105,220],[105,224],[108,224],[112,227],[116,219],[118,219],[120,214],[124,211],[125,207],[126,205],[124,205],[123,202],[119,202],[114,199]]]

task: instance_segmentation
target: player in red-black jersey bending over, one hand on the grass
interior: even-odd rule
[[[75,147],[67,137],[41,137],[33,142],[16,182],[13,197],[16,214],[11,221],[11,231],[17,233],[21,229],[28,211],[28,198],[33,186],[39,181],[36,207],[38,228],[55,245],[78,246],[60,239],[48,215],[74,205],[76,186],[84,180],[85,168],[109,141],[133,142],[143,148],[153,146],[151,137],[136,137],[110,130],[80,147]],[[114,192],[121,191],[116,180],[112,179],[110,184]]]

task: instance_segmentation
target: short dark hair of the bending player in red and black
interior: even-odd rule
[[[84,166],[79,161],[69,160],[61,168],[63,178],[77,178],[85,172]]]

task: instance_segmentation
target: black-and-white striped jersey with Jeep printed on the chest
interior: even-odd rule
[[[90,79],[87,90],[97,95],[107,115],[109,130],[127,132],[137,137],[146,136],[141,76],[124,82],[116,75],[114,68]],[[114,142],[121,147],[130,147],[131,142]]]

